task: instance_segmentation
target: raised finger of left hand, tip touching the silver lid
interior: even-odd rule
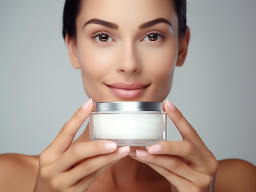
[[[89,117],[92,109],[92,99],[89,99],[61,128],[54,141],[47,148],[47,151],[50,151],[53,156],[58,156],[65,152],[70,147],[76,132],[83,125],[84,121]]]

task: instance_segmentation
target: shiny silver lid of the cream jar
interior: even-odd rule
[[[163,102],[100,102],[94,111],[164,111]]]

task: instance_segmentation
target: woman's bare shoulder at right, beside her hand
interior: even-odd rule
[[[219,161],[217,192],[256,192],[256,167],[240,159]]]

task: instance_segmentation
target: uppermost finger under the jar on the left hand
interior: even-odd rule
[[[53,164],[55,172],[64,172],[83,159],[114,152],[117,143],[113,141],[90,141],[72,145]]]

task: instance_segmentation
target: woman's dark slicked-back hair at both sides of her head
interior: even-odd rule
[[[179,22],[179,37],[186,32],[186,0],[172,0]],[[70,39],[76,38],[76,18],[82,7],[82,0],[66,0],[63,10],[62,35],[65,39],[66,33]]]

